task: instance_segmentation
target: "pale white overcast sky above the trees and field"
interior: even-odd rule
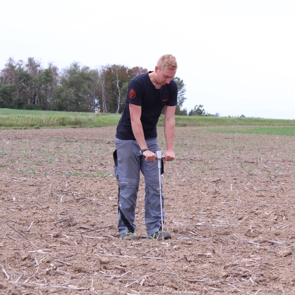
[[[7,59],[153,70],[177,57],[184,107],[295,119],[294,0],[1,0]]]

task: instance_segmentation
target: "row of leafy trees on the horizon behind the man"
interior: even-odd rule
[[[73,62],[59,70],[53,63],[44,68],[40,61],[28,58],[8,59],[0,71],[0,108],[72,112],[122,113],[128,84],[136,75],[147,73],[141,66],[107,64],[98,69]],[[177,115],[182,109],[185,84],[179,77]]]

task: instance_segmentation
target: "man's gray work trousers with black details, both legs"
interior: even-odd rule
[[[116,138],[117,165],[115,175],[118,180],[118,231],[135,232],[135,208],[139,187],[140,171],[145,177],[145,223],[148,236],[161,230],[161,204],[159,191],[159,169],[157,161],[147,161],[140,154],[136,140],[120,140]],[[152,152],[160,150],[157,138],[146,139],[148,149]],[[164,208],[164,195],[162,194]],[[163,209],[164,220],[164,209]]]

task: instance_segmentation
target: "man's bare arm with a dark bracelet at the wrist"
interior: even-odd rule
[[[147,148],[147,143],[145,140],[143,125],[140,120],[141,108],[142,108],[141,106],[137,106],[137,105],[129,103],[132,131],[140,149],[143,149],[143,148]],[[143,155],[146,157],[146,160],[152,161],[152,162],[155,161],[156,155],[150,150],[144,151]]]

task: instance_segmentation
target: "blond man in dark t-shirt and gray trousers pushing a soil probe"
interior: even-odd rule
[[[164,55],[158,60],[153,72],[136,76],[128,86],[126,105],[117,127],[117,149],[114,152],[114,170],[119,183],[118,231],[122,240],[136,239],[134,219],[140,171],[146,183],[145,223],[148,236],[171,238],[171,234],[163,232],[161,228],[158,166],[154,152],[160,150],[156,127],[166,106],[164,134],[167,150],[164,152],[164,161],[175,159],[177,84],[173,77],[176,71],[175,57]],[[162,203],[164,205],[163,195]]]

